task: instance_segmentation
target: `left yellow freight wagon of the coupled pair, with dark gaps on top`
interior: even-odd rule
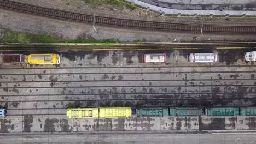
[[[98,118],[98,108],[69,108],[68,118]]]

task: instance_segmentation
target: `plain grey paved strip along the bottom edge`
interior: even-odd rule
[[[171,134],[171,133],[49,133],[49,134],[2,134],[2,144],[15,143],[190,143],[190,144],[255,144],[255,134]]]

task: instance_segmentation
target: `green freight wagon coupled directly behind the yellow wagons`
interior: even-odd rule
[[[168,108],[147,108],[136,109],[137,117],[167,117],[169,116]]]

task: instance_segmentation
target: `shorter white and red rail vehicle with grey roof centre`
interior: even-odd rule
[[[144,54],[145,63],[165,63],[166,54],[165,53],[153,53],[153,54]]]

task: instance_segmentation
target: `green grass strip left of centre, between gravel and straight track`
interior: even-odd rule
[[[25,32],[14,32],[5,30],[0,43],[115,43],[118,40],[105,39],[97,40],[91,35],[77,39],[63,39],[55,35],[31,34]]]

